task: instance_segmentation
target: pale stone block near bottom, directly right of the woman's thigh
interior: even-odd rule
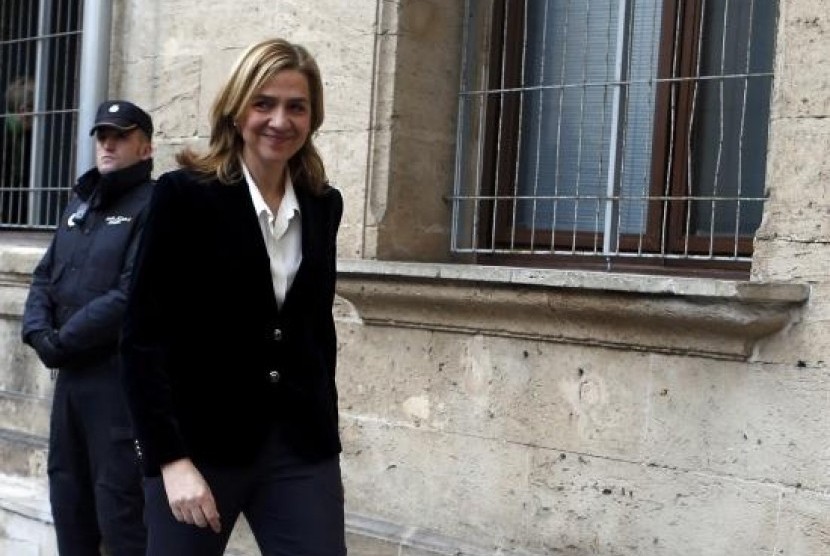
[[[523,528],[526,447],[349,412],[342,422],[347,509],[476,539],[491,552],[500,548],[499,539]]]

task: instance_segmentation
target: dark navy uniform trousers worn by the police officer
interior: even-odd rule
[[[49,498],[61,556],[144,556],[141,472],[118,369],[60,371],[49,434]]]

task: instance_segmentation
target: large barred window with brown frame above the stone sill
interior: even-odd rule
[[[776,16],[775,0],[468,1],[454,252],[746,272]]]

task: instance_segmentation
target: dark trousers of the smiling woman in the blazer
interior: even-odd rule
[[[161,477],[145,479],[147,556],[221,556],[242,513],[263,556],[344,556],[343,484],[338,456],[309,463],[274,432],[245,467],[194,462],[210,485],[222,531],[179,523]]]

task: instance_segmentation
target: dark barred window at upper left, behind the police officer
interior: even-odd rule
[[[0,228],[54,227],[68,200],[82,5],[0,2]]]

